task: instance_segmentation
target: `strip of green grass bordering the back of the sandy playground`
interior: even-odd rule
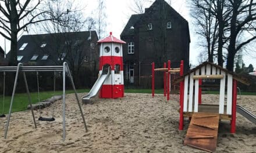
[[[83,92],[89,92],[90,89],[77,89],[78,93],[83,93]],[[126,93],[151,93],[151,89],[125,89]],[[73,90],[66,90],[66,94],[73,93]],[[163,89],[155,89],[155,93],[163,93]],[[205,93],[207,94],[219,94],[218,91],[206,91]],[[37,92],[30,93],[31,94],[31,100],[32,103],[37,103],[38,102],[38,94]],[[55,95],[60,95],[62,94],[62,91],[56,91]],[[239,93],[237,93],[239,94]],[[256,95],[254,92],[241,92],[243,95]],[[54,96],[54,92],[49,91],[49,92],[40,92],[40,100],[45,100],[50,97]],[[9,107],[10,107],[10,99],[11,96],[6,96],[5,97],[5,107],[3,114],[8,114],[9,112]],[[12,106],[12,112],[16,111],[24,111],[27,110],[27,105],[29,105],[29,101],[27,99],[27,93],[16,93],[15,98],[13,101],[13,106]],[[2,95],[0,95],[0,114],[2,114]]]

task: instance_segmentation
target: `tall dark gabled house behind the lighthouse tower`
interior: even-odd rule
[[[189,24],[164,0],[156,0],[143,14],[132,15],[120,37],[126,42],[126,84],[150,87],[152,62],[158,68],[170,60],[174,68],[184,60],[184,72],[189,70]]]

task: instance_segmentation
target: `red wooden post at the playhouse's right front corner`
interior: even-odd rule
[[[232,119],[230,133],[236,133],[236,97],[237,97],[237,81],[233,79],[233,101],[232,101]]]

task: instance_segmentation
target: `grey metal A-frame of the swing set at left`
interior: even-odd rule
[[[23,72],[23,78],[24,78],[24,83],[26,86],[26,92],[27,92],[27,97],[29,99],[29,104],[30,104],[30,108],[31,108],[31,114],[33,116],[33,122],[34,122],[34,126],[35,129],[37,128],[37,124],[35,123],[35,116],[34,116],[34,110],[32,107],[32,102],[31,102],[31,96],[30,96],[30,92],[29,92],[29,86],[27,85],[27,78],[26,78],[26,73],[25,72],[51,72],[51,71],[55,71],[55,72],[62,72],[62,77],[63,77],[63,99],[62,99],[62,108],[63,108],[63,122],[62,122],[62,129],[63,129],[63,141],[65,141],[66,138],[66,133],[65,133],[65,94],[66,94],[66,73],[67,76],[70,78],[70,82],[72,84],[72,88],[74,90],[74,94],[76,96],[76,100],[77,100],[77,104],[79,105],[79,110],[81,113],[81,117],[83,119],[83,123],[84,123],[84,128],[87,130],[87,125],[86,125],[86,120],[84,119],[84,114],[83,114],[83,110],[81,108],[81,104],[79,102],[79,97],[77,95],[76,92],[76,88],[74,86],[74,82],[73,82],[73,78],[72,75],[70,73],[70,69],[69,69],[69,65],[64,62],[63,65],[53,65],[53,66],[23,66],[23,63],[19,63],[17,65],[17,67],[0,67],[0,72],[16,72],[15,75],[15,82],[13,85],[13,92],[12,92],[12,99],[10,100],[10,108],[9,108],[9,115],[8,115],[8,119],[6,122],[6,126],[5,126],[5,134],[4,134],[4,138],[7,138],[7,133],[8,133],[8,128],[9,128],[9,122],[10,122],[10,114],[12,112],[12,104],[13,104],[13,99],[15,96],[15,92],[16,92],[16,87],[17,87],[17,79],[19,77],[19,72]]]

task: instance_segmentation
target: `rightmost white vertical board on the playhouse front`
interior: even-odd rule
[[[227,114],[232,114],[232,87],[233,87],[233,76],[227,74]]]

